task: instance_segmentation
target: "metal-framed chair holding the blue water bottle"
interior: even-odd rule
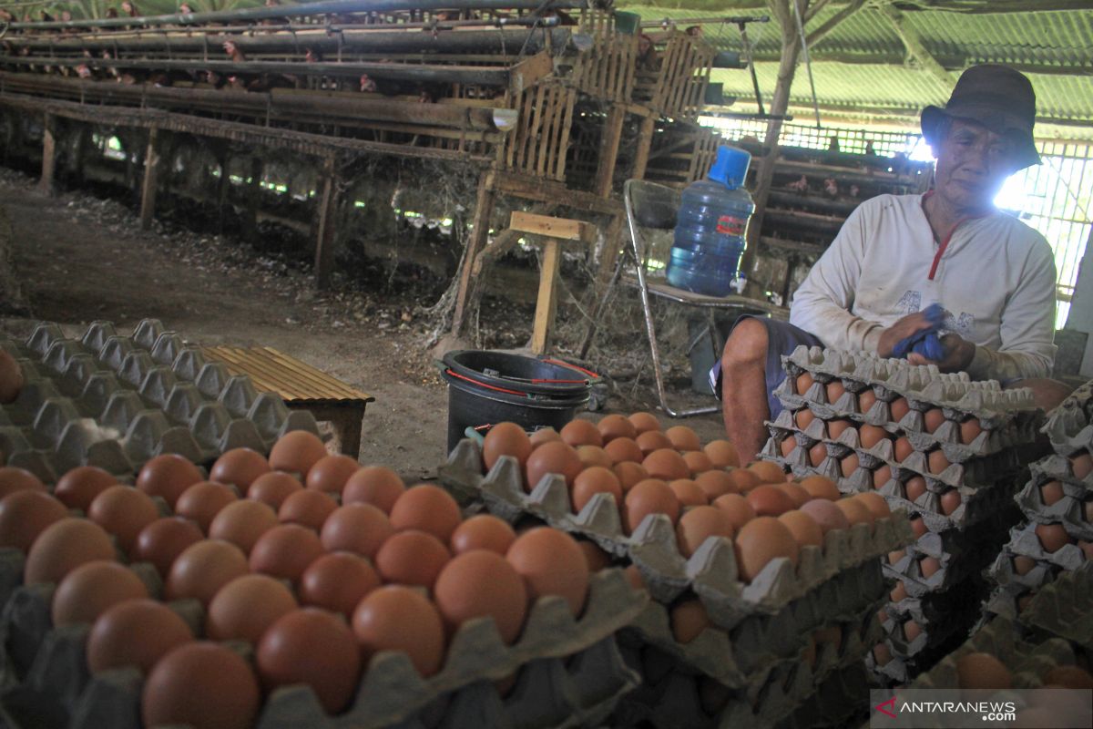
[[[663,369],[660,364],[660,350],[657,346],[656,325],[653,320],[651,297],[657,296],[670,302],[693,306],[704,309],[709,319],[710,331],[716,339],[716,327],[714,327],[714,314],[717,309],[736,309],[740,314],[764,314],[779,319],[789,318],[789,309],[783,306],[775,306],[767,302],[761,302],[747,296],[706,296],[695,294],[683,289],[669,285],[662,278],[663,274],[653,274],[648,269],[649,246],[643,234],[643,228],[659,231],[670,231],[675,227],[675,214],[679,211],[681,191],[647,183],[640,179],[630,179],[623,187],[623,202],[626,209],[626,224],[630,228],[631,245],[623,248],[619,257],[608,290],[600,302],[600,310],[610,295],[614,283],[622,278],[626,283],[636,285],[642,295],[642,309],[645,313],[645,330],[649,339],[649,353],[653,357],[653,372],[657,381],[657,396],[660,398],[660,407],[669,418],[687,418],[720,411],[720,405],[708,405],[694,408],[691,410],[673,410],[668,404],[667,391],[665,389]],[[630,261],[635,275],[624,275],[623,269]],[[724,346],[724,343],[720,343]],[[721,346],[717,351],[720,352]]]

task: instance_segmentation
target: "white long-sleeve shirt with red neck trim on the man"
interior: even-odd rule
[[[1039,233],[995,212],[939,244],[921,195],[882,195],[850,213],[794,297],[789,321],[827,346],[877,350],[881,331],[930,304],[974,343],[973,379],[1048,377],[1055,361],[1055,256]]]

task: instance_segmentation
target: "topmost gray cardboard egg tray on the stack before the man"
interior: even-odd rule
[[[1003,390],[995,380],[977,381],[969,379],[966,373],[941,373],[935,365],[916,366],[904,360],[886,360],[869,352],[846,352],[819,346],[809,349],[803,344],[789,356],[783,356],[781,361],[791,377],[785,379],[775,395],[790,408],[808,404],[818,415],[822,409],[827,408],[830,414],[822,415],[824,419],[861,415],[854,398],[846,401],[839,398],[839,402],[828,403],[824,388],[815,388],[814,385],[809,392],[796,392],[796,378],[802,372],[808,372],[813,377],[819,375],[824,381],[842,379],[851,393],[872,387],[878,399],[884,402],[903,396],[912,410],[941,408],[954,415],[974,415],[988,431],[1015,419],[1038,418],[1032,390]],[[810,393],[819,397],[809,397]],[[872,424],[883,426],[890,423],[891,420],[886,419]]]

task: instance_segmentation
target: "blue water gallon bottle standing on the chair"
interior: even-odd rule
[[[709,176],[683,190],[668,260],[669,284],[707,296],[733,293],[748,221],[755,211],[743,187],[750,164],[744,150],[719,146]]]

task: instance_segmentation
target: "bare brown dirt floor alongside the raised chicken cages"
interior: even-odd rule
[[[25,336],[34,321],[50,320],[77,336],[91,321],[125,330],[151,317],[200,344],[273,346],[376,398],[364,419],[362,462],[411,480],[435,473],[445,456],[447,392],[430,354],[435,327],[422,315],[433,302],[413,291],[319,294],[306,271],[237,240],[158,223],[145,233],[115,200],[47,197],[35,184],[0,169],[12,266],[30,306],[26,317],[2,319],[3,330]],[[481,317],[504,308],[483,306]],[[637,319],[633,331],[640,337]],[[612,385],[603,412],[654,410],[647,367]],[[685,423],[704,440],[722,437],[719,415]]]

